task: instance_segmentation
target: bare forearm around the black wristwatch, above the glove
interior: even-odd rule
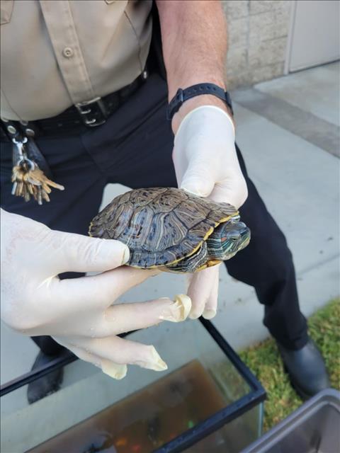
[[[220,1],[159,0],[157,7],[169,100],[178,88],[193,84],[210,82],[225,88],[227,25]],[[174,115],[174,132],[186,113],[207,104],[228,111],[225,103],[215,96],[197,96],[186,101]]]

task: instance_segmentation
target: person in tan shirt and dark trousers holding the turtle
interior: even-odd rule
[[[33,368],[66,347],[116,378],[128,363],[164,369],[152,346],[118,334],[181,321],[189,312],[211,319],[219,266],[191,277],[190,299],[113,304],[155,272],[122,266],[126,246],[86,234],[107,183],[178,185],[240,208],[251,242],[225,262],[227,271],[255,288],[263,322],[307,398],[329,379],[300,312],[293,258],[246,171],[230,100],[213,92],[226,88],[222,6],[155,4],[1,1],[2,319],[40,347]],[[187,96],[176,98],[179,88]],[[20,167],[23,149],[64,187],[52,190],[50,202],[11,195],[12,159]],[[18,171],[16,178],[13,192],[23,195]],[[100,274],[84,277],[91,271]],[[57,389],[61,379],[53,372],[30,384],[29,401]]]

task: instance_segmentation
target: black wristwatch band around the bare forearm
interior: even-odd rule
[[[185,88],[184,90],[179,88],[166,109],[166,117],[168,120],[172,120],[172,117],[179,111],[179,108],[184,101],[194,98],[195,96],[200,96],[201,94],[211,94],[212,96],[222,99],[231,110],[232,115],[234,115],[232,110],[232,99],[227,91],[215,84],[197,84],[188,86],[188,88]]]

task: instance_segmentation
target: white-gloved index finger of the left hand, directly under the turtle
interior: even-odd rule
[[[136,285],[157,275],[159,270],[135,269],[128,266],[108,270],[99,275],[57,280],[55,297],[58,299],[57,310],[86,311],[94,307],[106,308],[122,294]],[[48,285],[48,281],[45,282]]]

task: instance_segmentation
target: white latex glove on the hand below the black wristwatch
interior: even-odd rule
[[[174,140],[174,167],[179,188],[227,202],[237,209],[248,195],[234,145],[235,131],[229,115],[214,105],[191,110],[179,126]],[[188,296],[191,318],[211,319],[217,311],[220,265],[193,274]]]

